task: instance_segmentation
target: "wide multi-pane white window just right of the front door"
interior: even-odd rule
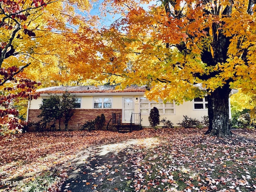
[[[159,111],[159,114],[174,114],[174,103],[167,102],[164,104],[162,100],[158,102],[149,101],[148,99],[141,97],[140,98],[140,113],[149,114],[150,109],[156,107]]]

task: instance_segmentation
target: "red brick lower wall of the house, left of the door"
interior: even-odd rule
[[[95,118],[102,113],[105,116],[106,123],[109,122],[110,118],[112,118],[113,113],[120,113],[120,118],[122,120],[122,109],[75,109],[75,113],[71,117],[71,120],[68,123],[68,128],[70,130],[78,130],[81,125],[86,123],[88,120],[95,120]],[[31,122],[38,122],[40,118],[37,116],[41,113],[39,109],[30,109],[28,112],[28,120]],[[59,128],[59,122],[56,122],[56,130]],[[63,120],[60,123],[61,130],[65,130],[65,125]],[[29,131],[33,131],[30,129]]]

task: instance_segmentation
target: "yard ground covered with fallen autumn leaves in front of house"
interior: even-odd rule
[[[48,191],[67,192],[256,191],[256,131],[233,130],[229,139],[203,136],[204,131],[44,132],[2,138],[0,191],[32,191],[29,186],[38,180]],[[50,176],[58,179],[47,186]],[[17,180],[24,184],[7,183]]]

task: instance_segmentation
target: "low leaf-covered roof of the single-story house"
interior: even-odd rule
[[[69,93],[122,93],[122,92],[145,92],[146,86],[128,86],[125,89],[116,89],[113,85],[102,86],[55,86],[38,89],[40,94],[58,94],[68,91]]]

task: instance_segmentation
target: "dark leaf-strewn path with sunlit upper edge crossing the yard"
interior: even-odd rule
[[[144,139],[143,143],[142,140],[132,139],[82,150],[70,162],[70,171],[62,186],[62,192],[114,192],[118,189],[118,181],[123,181],[121,176],[127,179],[127,186],[124,187],[130,188],[129,178],[132,173],[126,172],[129,167],[122,164],[128,158],[126,152],[132,150],[134,145],[151,145],[152,142],[156,144],[157,138]]]

